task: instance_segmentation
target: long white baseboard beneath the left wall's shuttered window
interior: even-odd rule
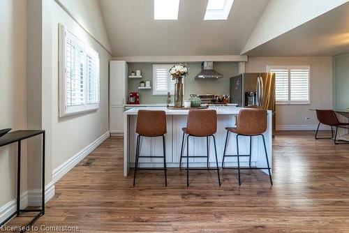
[[[77,152],[73,157],[66,160],[66,162],[62,163],[53,170],[52,172],[52,181],[56,183],[63,177],[67,172],[69,172],[77,163],[80,163],[82,159],[84,159],[86,156],[89,155],[94,149],[97,148],[102,142],[104,142],[108,137],[110,137],[110,132],[107,131],[101,137],[98,137],[94,142],[91,142],[91,144],[87,145],[84,149]]]

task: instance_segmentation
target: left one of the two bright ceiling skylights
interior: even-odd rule
[[[178,20],[179,0],[154,0],[154,20]]]

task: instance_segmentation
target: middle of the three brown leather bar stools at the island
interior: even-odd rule
[[[189,170],[217,170],[218,183],[221,186],[221,179],[219,177],[219,167],[216,149],[217,132],[217,113],[216,110],[189,110],[186,128],[182,128],[183,137],[181,140],[181,158],[186,157],[186,186],[189,186]],[[183,156],[184,135],[186,136],[186,156]],[[207,142],[207,156],[189,156],[189,137],[206,137]],[[216,168],[209,167],[209,137],[214,139],[214,151],[216,153]],[[207,168],[189,168],[189,158],[206,158]],[[179,170],[181,170],[181,158],[179,161]]]

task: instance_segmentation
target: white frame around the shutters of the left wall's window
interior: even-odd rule
[[[74,40],[75,43],[80,45],[84,49],[84,57],[86,57],[84,63],[84,104],[69,106],[67,104],[67,89],[66,89],[66,36],[70,40]],[[97,103],[87,103],[87,95],[89,93],[87,87],[87,54],[92,54],[96,58],[96,78],[97,78],[97,89],[98,89],[98,100]],[[59,24],[59,117],[67,117],[75,114],[81,114],[84,112],[96,111],[99,108],[100,96],[101,96],[101,73],[100,73],[100,59],[99,54],[93,48],[89,47],[82,40],[77,38],[73,33],[68,31],[63,24]]]

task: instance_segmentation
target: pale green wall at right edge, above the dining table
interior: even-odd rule
[[[334,57],[334,107],[345,110],[349,107],[349,54]]]

